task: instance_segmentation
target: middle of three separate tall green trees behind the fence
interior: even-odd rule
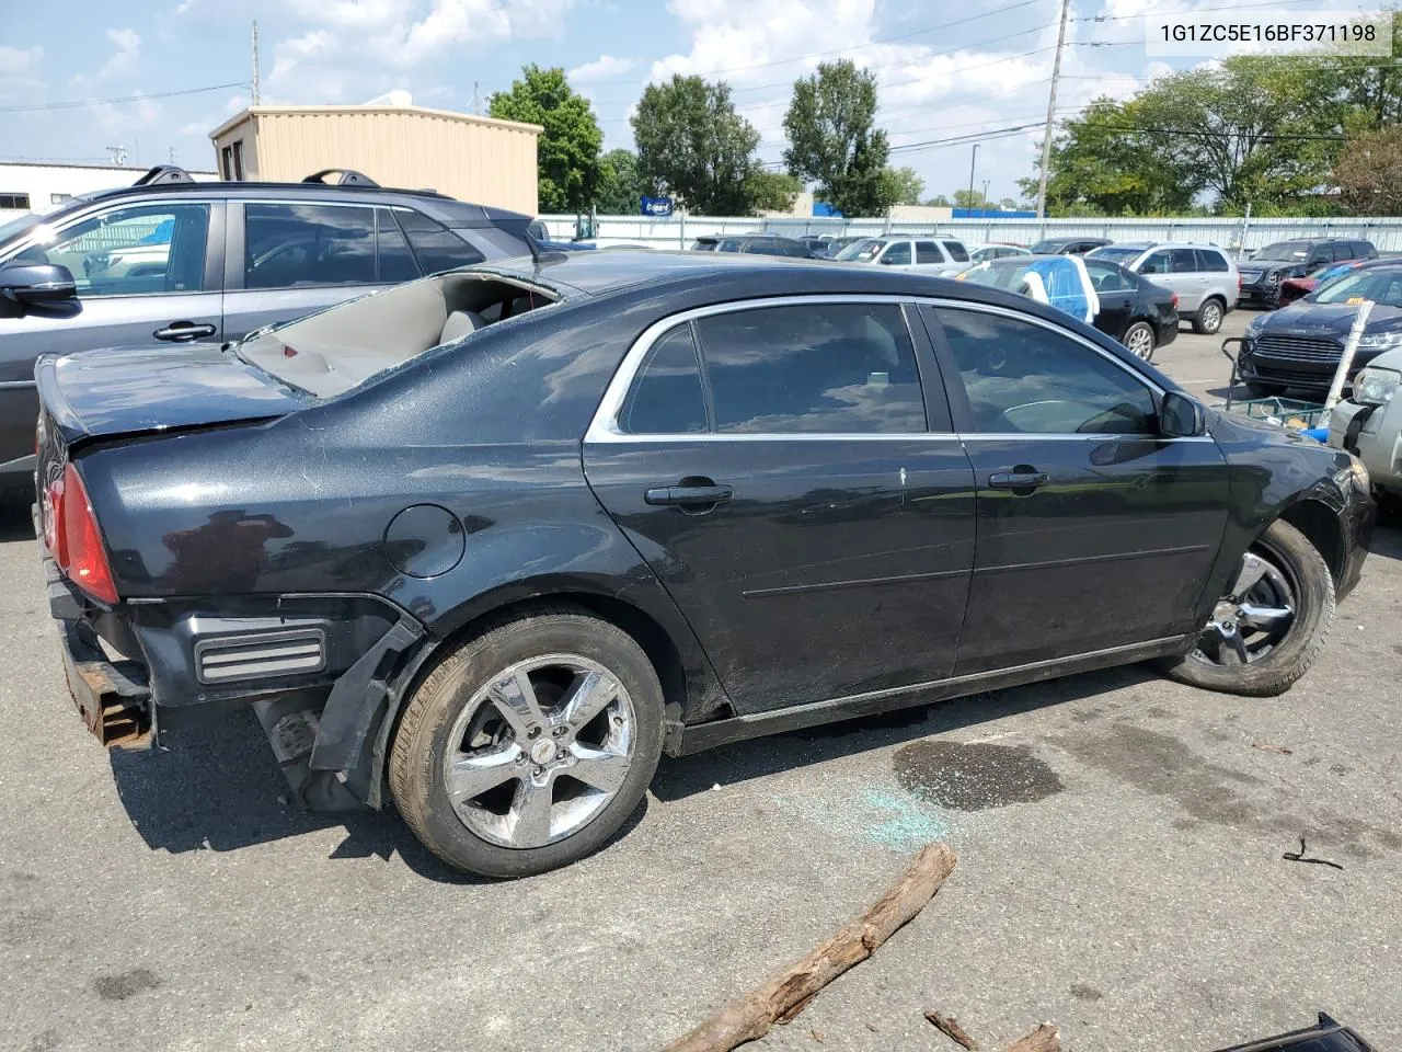
[[[673,74],[649,84],[632,115],[638,171],[694,213],[744,216],[754,205],[760,133],[730,102],[725,81]]]

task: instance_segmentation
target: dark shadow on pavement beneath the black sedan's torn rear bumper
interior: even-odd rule
[[[397,853],[428,879],[481,882],[439,861],[393,805],[379,812],[301,811],[292,802],[252,711],[182,731],[168,741],[170,749],[108,753],[122,807],[153,850],[234,851],[339,826],[346,836],[331,858],[388,860]]]

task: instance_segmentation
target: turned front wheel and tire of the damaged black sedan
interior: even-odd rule
[[[1290,523],[1273,522],[1242,555],[1197,645],[1165,670],[1207,690],[1281,694],[1319,656],[1333,602],[1333,578],[1319,550]]]

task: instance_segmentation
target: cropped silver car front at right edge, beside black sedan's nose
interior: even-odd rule
[[[1368,468],[1384,511],[1402,508],[1402,348],[1387,351],[1353,377],[1353,393],[1329,414],[1329,445]]]

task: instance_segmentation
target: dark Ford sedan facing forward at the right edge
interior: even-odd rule
[[[1373,300],[1349,379],[1370,360],[1402,346],[1402,264],[1366,262],[1318,292],[1270,314],[1258,314],[1242,337],[1238,369],[1256,397],[1287,390],[1322,398],[1339,369],[1345,341],[1363,300]]]

